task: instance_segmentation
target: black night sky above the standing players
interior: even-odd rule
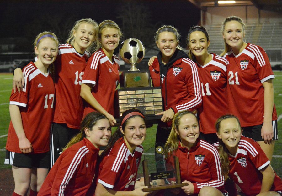
[[[157,24],[157,28],[162,24],[177,28],[184,47],[189,28],[200,21],[200,10],[187,0],[132,2],[142,3],[148,8],[151,12],[150,23]],[[122,20],[117,15],[125,3],[121,0],[1,0],[0,38],[25,37],[33,40],[41,31],[51,30],[64,43],[61,31],[69,30],[81,18],[92,18],[97,23],[110,19],[122,28]],[[57,28],[50,25],[54,23],[58,24]]]

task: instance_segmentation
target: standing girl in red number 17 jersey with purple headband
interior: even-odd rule
[[[11,122],[5,163],[12,165],[13,196],[36,195],[46,178],[50,161],[50,127],[53,120],[55,87],[50,65],[58,55],[54,33],[40,33],[34,42],[38,60],[24,67],[24,87],[10,97]]]

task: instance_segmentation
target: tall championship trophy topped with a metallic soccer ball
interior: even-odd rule
[[[120,117],[125,110],[139,109],[151,123],[161,119],[155,114],[163,111],[161,87],[151,87],[150,72],[136,68],[145,55],[145,48],[138,39],[130,38],[121,43],[120,56],[131,65],[131,69],[121,73],[120,89],[117,91],[118,114]]]

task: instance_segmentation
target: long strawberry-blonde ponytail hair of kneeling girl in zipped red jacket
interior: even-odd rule
[[[192,114],[192,115],[195,116],[196,113],[197,113],[196,110],[194,110],[194,112],[191,112],[189,110],[184,110],[184,111],[180,111],[180,112],[178,112],[174,115],[173,120],[172,120],[172,128],[171,128],[170,134],[168,136],[168,139],[166,141],[166,144],[164,146],[163,153],[164,153],[165,157],[168,157],[170,154],[173,154],[178,149],[180,137],[176,133],[175,129],[178,130],[178,127],[179,127],[179,124],[180,124],[180,118],[182,116],[186,115],[186,114]],[[195,116],[195,118],[197,118],[197,117]]]

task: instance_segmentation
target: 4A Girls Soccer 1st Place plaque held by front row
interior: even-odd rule
[[[174,164],[169,165],[166,163],[164,156],[155,156],[155,151],[163,155],[163,146],[163,144],[157,143],[144,152],[142,166],[144,183],[148,188],[144,188],[143,192],[188,185],[187,183],[181,183],[178,157],[173,156]]]

